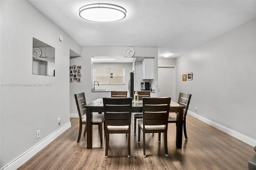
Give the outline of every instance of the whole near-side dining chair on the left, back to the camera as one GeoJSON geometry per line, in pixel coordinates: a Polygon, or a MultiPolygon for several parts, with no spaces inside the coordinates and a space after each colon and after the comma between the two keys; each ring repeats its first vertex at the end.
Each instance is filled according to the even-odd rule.
{"type": "Polygon", "coordinates": [[[132,97],[103,97],[105,116],[106,152],[108,158],[109,134],[128,134],[128,158],[131,157],[132,97]]]}

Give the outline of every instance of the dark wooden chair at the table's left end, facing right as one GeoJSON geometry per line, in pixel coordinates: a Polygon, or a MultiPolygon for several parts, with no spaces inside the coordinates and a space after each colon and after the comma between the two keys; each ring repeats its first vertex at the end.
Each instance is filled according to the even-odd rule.
{"type": "MultiPolygon", "coordinates": [[[[86,99],[84,93],[75,94],[76,99],[76,107],[79,115],[79,134],[77,142],[80,141],[81,133],[82,133],[82,125],[84,127],[84,135],[86,134],[86,99]]],[[[100,143],[102,144],[102,123],[104,122],[104,115],[101,114],[93,114],[92,115],[92,125],[98,125],[100,130],[100,143]]]]}

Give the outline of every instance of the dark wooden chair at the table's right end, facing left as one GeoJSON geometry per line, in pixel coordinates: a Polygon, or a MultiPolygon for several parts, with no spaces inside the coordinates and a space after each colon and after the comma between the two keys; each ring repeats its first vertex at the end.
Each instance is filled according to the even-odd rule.
{"type": "MultiPolygon", "coordinates": [[[[187,130],[186,130],[186,116],[187,116],[188,106],[190,103],[191,96],[192,96],[191,94],[180,93],[178,98],[178,103],[186,106],[186,108],[183,110],[183,130],[184,130],[184,135],[186,140],[188,140],[187,130]]],[[[169,114],[168,123],[177,123],[177,117],[175,113],[169,114]]]]}

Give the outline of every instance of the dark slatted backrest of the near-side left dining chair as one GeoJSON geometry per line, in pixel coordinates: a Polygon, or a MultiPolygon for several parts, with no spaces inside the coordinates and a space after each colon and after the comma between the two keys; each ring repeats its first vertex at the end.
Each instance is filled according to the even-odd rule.
{"type": "Polygon", "coordinates": [[[103,97],[105,125],[130,125],[132,97],[103,97]]]}

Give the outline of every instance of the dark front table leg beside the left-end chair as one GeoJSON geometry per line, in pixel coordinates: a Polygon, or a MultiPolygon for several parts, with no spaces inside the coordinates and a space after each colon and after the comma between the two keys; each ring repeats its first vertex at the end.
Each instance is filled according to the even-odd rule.
{"type": "Polygon", "coordinates": [[[92,110],[86,108],[87,149],[92,148],[92,110]]]}

